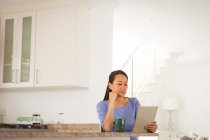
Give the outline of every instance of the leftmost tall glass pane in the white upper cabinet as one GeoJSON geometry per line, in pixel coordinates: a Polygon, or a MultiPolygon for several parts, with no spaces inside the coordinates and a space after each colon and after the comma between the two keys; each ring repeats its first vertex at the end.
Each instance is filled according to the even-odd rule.
{"type": "Polygon", "coordinates": [[[5,22],[3,83],[12,82],[14,19],[5,22]]]}

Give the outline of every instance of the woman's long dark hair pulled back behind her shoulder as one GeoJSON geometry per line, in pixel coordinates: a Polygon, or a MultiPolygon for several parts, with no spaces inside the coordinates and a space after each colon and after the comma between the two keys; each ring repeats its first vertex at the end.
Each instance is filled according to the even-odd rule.
{"type": "Polygon", "coordinates": [[[107,84],[107,87],[106,87],[106,92],[105,92],[105,96],[104,96],[104,101],[109,100],[109,92],[112,91],[112,90],[109,88],[109,83],[112,84],[113,81],[115,80],[116,75],[118,75],[118,74],[122,74],[122,75],[124,75],[124,76],[128,79],[127,74],[126,74],[124,71],[122,71],[122,70],[116,70],[116,71],[111,72],[110,75],[109,75],[109,81],[108,81],[108,84],[107,84]]]}

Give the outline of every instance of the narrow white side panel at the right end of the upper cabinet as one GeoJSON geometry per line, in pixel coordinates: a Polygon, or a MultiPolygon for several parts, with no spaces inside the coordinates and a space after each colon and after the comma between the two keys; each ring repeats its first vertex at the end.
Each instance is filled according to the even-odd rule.
{"type": "Polygon", "coordinates": [[[77,36],[75,58],[75,85],[89,86],[89,10],[87,6],[77,8],[77,36]]]}

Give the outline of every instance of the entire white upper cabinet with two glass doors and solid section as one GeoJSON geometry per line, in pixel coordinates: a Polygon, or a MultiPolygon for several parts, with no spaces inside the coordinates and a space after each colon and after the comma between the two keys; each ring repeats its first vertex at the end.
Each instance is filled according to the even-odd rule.
{"type": "Polygon", "coordinates": [[[88,87],[88,13],[74,5],[2,16],[0,87],[88,87]]]}

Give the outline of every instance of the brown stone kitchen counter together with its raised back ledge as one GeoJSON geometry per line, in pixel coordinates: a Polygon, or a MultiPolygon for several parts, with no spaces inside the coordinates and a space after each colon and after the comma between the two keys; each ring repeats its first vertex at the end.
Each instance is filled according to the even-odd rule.
{"type": "Polygon", "coordinates": [[[158,133],[100,132],[95,124],[49,125],[48,129],[0,129],[0,138],[84,138],[158,136],[158,133]]]}

